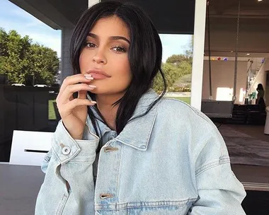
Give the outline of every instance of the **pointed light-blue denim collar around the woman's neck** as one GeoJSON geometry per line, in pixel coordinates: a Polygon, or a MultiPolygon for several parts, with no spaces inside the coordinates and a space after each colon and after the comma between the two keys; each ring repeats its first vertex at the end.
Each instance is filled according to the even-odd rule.
{"type": "MultiPolygon", "coordinates": [[[[140,98],[139,102],[137,103],[137,108],[135,109],[132,118],[135,118],[139,115],[142,115],[144,112],[147,112],[149,105],[151,105],[151,103],[153,103],[154,100],[156,100],[157,98],[158,95],[152,89],[142,95],[142,98],[140,98]]],[[[151,136],[152,128],[156,120],[158,106],[159,103],[154,105],[154,107],[151,108],[147,115],[144,115],[143,117],[138,117],[137,119],[127,123],[125,125],[125,128],[122,130],[122,132],[120,132],[118,136],[116,136],[115,139],[127,146],[131,146],[141,151],[146,151],[149,144],[149,138],[151,136]]],[[[91,132],[94,132],[93,125],[91,124],[91,120],[89,119],[89,117],[87,120],[87,124],[91,132]]],[[[103,124],[103,122],[99,120],[98,125],[101,129],[102,136],[106,132],[111,131],[109,127],[107,127],[105,124],[103,124]]]]}

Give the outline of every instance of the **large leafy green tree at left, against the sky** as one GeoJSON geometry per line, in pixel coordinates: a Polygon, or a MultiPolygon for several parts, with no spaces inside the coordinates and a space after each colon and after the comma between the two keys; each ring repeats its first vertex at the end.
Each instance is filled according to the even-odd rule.
{"type": "Polygon", "coordinates": [[[9,83],[55,83],[59,71],[57,52],[33,44],[30,37],[21,37],[16,30],[8,33],[0,28],[0,74],[8,75],[9,83]]]}

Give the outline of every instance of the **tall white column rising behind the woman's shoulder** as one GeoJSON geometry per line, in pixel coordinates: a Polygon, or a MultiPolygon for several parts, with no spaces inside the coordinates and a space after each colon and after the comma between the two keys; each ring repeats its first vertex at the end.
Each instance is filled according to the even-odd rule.
{"type": "Polygon", "coordinates": [[[205,12],[206,0],[195,1],[195,26],[193,38],[193,71],[191,82],[190,105],[201,109],[202,100],[202,72],[205,47],[205,12]]]}

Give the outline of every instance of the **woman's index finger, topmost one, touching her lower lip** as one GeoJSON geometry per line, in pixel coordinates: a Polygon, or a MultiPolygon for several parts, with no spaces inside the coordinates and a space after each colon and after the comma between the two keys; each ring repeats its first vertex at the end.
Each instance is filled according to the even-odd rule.
{"type": "Polygon", "coordinates": [[[74,85],[76,83],[89,83],[93,80],[93,77],[90,74],[76,74],[74,76],[67,76],[66,79],[62,82],[62,86],[59,89],[59,95],[65,91],[65,88],[69,85],[74,85]]]}

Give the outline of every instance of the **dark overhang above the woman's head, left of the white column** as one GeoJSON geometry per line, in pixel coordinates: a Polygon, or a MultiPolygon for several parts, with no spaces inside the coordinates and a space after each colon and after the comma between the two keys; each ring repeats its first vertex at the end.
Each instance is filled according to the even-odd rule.
{"type": "MultiPolygon", "coordinates": [[[[73,28],[93,0],[9,0],[54,29],[73,28]]],[[[106,0],[102,0],[106,1],[106,0]]],[[[159,33],[193,34],[195,0],[132,1],[151,17],[159,33]]]]}

